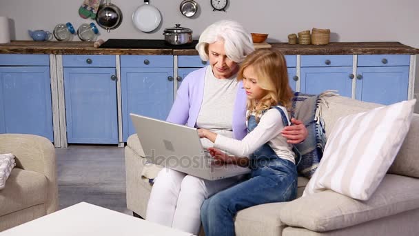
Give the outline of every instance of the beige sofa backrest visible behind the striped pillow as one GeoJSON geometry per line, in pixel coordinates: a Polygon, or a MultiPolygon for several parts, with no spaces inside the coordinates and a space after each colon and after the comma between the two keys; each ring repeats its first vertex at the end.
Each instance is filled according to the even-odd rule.
{"type": "MultiPolygon", "coordinates": [[[[379,106],[380,104],[367,103],[347,97],[333,96],[325,97],[327,104],[320,104],[320,113],[325,121],[326,136],[336,124],[339,117],[365,112],[379,106]]],[[[397,130],[395,130],[397,132],[397,130]]],[[[388,173],[419,177],[419,115],[413,114],[409,132],[400,148],[400,151],[389,168],[388,173]]]]}

